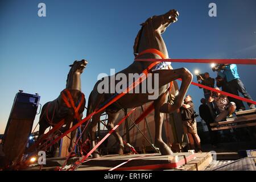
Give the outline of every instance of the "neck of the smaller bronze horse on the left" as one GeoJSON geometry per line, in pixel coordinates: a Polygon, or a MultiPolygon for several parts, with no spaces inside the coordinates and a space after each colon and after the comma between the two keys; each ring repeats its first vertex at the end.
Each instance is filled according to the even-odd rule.
{"type": "Polygon", "coordinates": [[[81,89],[81,73],[68,73],[68,80],[66,84],[66,89],[72,90],[82,90],[81,89]]]}

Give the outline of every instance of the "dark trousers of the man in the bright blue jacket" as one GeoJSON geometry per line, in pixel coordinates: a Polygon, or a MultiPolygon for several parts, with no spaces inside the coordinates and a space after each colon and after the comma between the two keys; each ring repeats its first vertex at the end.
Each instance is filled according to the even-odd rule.
{"type": "MultiPolygon", "coordinates": [[[[238,91],[239,91],[243,95],[243,97],[249,100],[253,100],[250,94],[246,92],[245,85],[243,85],[243,82],[240,80],[240,78],[229,81],[228,85],[232,94],[239,96],[238,94],[238,91]]],[[[249,106],[251,105],[250,103],[247,103],[247,104],[249,106]]],[[[240,109],[243,106],[243,102],[239,100],[237,101],[236,105],[237,105],[237,109],[240,109]]]]}

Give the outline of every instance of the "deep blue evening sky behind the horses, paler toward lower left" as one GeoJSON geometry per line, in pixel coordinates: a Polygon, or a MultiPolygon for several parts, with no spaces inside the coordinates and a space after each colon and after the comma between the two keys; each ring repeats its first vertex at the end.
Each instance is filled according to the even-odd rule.
{"type": "MultiPolygon", "coordinates": [[[[86,99],[99,73],[110,74],[133,62],[139,24],[176,9],[178,21],[163,34],[172,58],[256,58],[256,1],[0,1],[0,133],[5,130],[19,89],[39,93],[40,103],[65,88],[73,60],[86,59],[82,91],[86,99]],[[46,3],[47,17],[38,17],[46,3]],[[217,17],[208,5],[217,4],[217,17]]],[[[216,73],[209,64],[173,63],[172,67],[216,73]]],[[[254,65],[238,65],[246,89],[256,100],[254,65]]],[[[194,78],[194,81],[196,79],[194,78]]],[[[196,107],[203,90],[191,85],[196,107]]],[[[37,123],[36,117],[35,123],[37,123]]]]}

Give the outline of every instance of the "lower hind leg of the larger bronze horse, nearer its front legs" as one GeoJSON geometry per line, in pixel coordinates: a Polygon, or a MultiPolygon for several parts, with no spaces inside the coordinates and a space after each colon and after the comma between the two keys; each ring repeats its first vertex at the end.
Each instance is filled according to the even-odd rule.
{"type": "MultiPolygon", "coordinates": [[[[116,121],[118,115],[119,115],[118,113],[108,113],[108,130],[109,131],[114,128],[114,122],[116,121]]],[[[114,131],[113,135],[117,140],[117,142],[119,143],[118,155],[123,155],[125,146],[123,145],[122,136],[117,131],[114,131]]]]}

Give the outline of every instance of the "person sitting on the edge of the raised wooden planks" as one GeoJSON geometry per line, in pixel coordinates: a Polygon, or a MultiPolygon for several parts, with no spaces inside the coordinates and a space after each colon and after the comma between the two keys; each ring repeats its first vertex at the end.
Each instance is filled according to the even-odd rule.
{"type": "MultiPolygon", "coordinates": [[[[218,87],[215,89],[220,90],[218,87]]],[[[218,115],[214,119],[215,122],[220,122],[227,116],[233,117],[232,114],[236,111],[236,104],[234,102],[229,102],[228,97],[218,92],[213,92],[208,101],[213,102],[217,110],[218,115]]]]}

